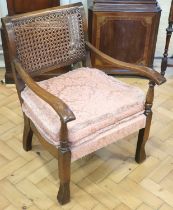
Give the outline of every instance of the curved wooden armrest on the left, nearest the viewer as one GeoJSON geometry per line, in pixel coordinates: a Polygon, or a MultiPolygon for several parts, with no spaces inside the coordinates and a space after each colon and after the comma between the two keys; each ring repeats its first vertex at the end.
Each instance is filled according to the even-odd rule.
{"type": "Polygon", "coordinates": [[[69,109],[69,107],[58,97],[52,95],[42,87],[40,87],[31,77],[28,75],[21,64],[15,59],[13,61],[15,69],[20,75],[21,79],[26,83],[26,85],[41,99],[47,102],[59,115],[60,119],[64,122],[70,122],[75,120],[75,115],[69,109]]]}

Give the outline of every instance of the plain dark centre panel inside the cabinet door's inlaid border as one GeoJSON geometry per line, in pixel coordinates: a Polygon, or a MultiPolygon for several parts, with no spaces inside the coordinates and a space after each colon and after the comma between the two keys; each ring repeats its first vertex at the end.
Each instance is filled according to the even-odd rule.
{"type": "Polygon", "coordinates": [[[147,27],[141,21],[107,18],[100,34],[100,50],[106,54],[130,63],[144,60],[147,27]]]}

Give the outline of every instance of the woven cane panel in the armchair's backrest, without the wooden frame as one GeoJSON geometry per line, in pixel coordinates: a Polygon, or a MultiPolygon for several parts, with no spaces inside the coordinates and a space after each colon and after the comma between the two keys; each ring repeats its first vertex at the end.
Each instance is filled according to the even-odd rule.
{"type": "Polygon", "coordinates": [[[30,74],[85,57],[80,7],[56,9],[12,20],[17,58],[30,74]]]}

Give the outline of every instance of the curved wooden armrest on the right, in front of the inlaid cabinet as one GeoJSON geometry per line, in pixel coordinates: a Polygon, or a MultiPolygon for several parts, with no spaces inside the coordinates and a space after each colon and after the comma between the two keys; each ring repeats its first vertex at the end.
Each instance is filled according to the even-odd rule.
{"type": "Polygon", "coordinates": [[[115,67],[119,67],[121,69],[127,69],[134,71],[140,76],[146,77],[152,81],[154,81],[157,85],[161,85],[164,82],[166,82],[166,79],[159,74],[154,69],[145,67],[145,66],[139,66],[135,64],[126,63],[123,61],[116,60],[109,55],[106,55],[105,53],[101,52],[97,48],[95,48],[91,43],[86,42],[86,46],[89,48],[89,50],[94,53],[96,56],[102,58],[104,61],[108,62],[111,65],[114,65],[115,67]]]}

